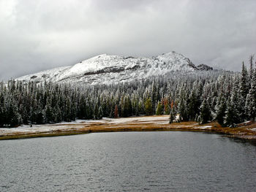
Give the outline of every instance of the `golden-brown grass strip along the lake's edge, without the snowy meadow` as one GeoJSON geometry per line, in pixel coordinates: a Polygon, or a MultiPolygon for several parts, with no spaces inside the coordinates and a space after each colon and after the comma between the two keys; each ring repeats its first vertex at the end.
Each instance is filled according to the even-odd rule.
{"type": "Polygon", "coordinates": [[[42,133],[29,133],[29,132],[12,132],[8,135],[0,135],[0,139],[22,139],[30,137],[53,137],[71,134],[88,134],[95,132],[118,132],[118,131],[201,131],[201,132],[214,132],[218,134],[225,134],[228,137],[235,137],[240,139],[254,139],[256,140],[256,123],[249,126],[238,128],[222,128],[219,123],[212,122],[204,125],[199,125],[195,121],[188,121],[182,123],[167,124],[161,122],[163,120],[141,120],[138,118],[131,120],[127,123],[78,123],[78,124],[62,124],[63,128],[56,129],[56,131],[42,132],[42,133]],[[68,126],[64,128],[64,126],[68,126]],[[202,128],[203,126],[211,126],[202,128]]]}

